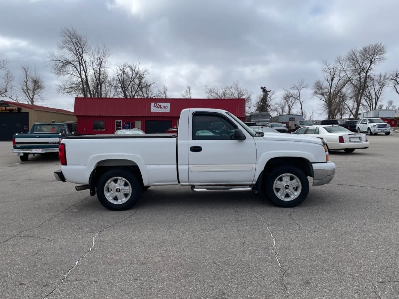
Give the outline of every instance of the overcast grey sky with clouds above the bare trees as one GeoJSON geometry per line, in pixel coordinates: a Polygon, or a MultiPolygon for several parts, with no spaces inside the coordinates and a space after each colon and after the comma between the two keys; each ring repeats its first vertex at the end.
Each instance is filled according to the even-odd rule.
{"type": "MultiPolygon", "coordinates": [[[[190,85],[193,98],[204,98],[205,85],[236,80],[255,100],[260,86],[281,95],[303,78],[311,87],[323,60],[371,43],[387,46],[376,71],[399,68],[398,8],[397,0],[0,0],[0,60],[17,80],[21,65],[39,71],[45,98],[37,104],[72,110],[73,96],[56,91],[48,53],[73,27],[92,46],[106,45],[113,64],[147,67],[169,97],[190,85]]],[[[302,98],[314,119],[325,116],[311,88],[302,98]]],[[[390,99],[399,105],[388,88],[383,102],[390,99]]]]}

